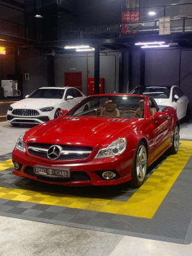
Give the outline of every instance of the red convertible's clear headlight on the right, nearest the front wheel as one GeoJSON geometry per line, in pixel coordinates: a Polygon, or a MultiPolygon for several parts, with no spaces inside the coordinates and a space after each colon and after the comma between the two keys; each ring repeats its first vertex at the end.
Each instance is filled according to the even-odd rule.
{"type": "Polygon", "coordinates": [[[107,148],[100,149],[95,158],[118,156],[125,151],[126,145],[126,139],[119,138],[118,140],[113,141],[107,148]]]}

